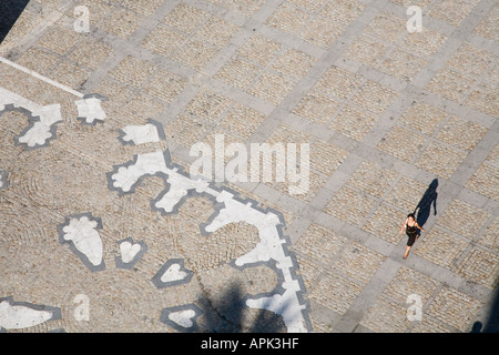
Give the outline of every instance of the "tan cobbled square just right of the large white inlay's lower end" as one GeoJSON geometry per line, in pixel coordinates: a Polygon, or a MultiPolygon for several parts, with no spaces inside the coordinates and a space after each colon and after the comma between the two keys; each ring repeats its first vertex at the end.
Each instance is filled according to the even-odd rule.
{"type": "Polygon", "coordinates": [[[312,288],[309,297],[322,306],[343,315],[348,311],[361,290],[363,287],[359,284],[344,276],[327,272],[318,281],[317,285],[312,288]]]}

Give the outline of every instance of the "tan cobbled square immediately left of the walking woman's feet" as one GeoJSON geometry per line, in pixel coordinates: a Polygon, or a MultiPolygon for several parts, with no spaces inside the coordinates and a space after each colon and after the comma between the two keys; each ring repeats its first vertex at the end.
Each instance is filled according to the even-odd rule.
{"type": "Polygon", "coordinates": [[[353,242],[342,250],[330,267],[337,273],[344,273],[353,280],[367,284],[385,260],[385,255],[353,242]]]}

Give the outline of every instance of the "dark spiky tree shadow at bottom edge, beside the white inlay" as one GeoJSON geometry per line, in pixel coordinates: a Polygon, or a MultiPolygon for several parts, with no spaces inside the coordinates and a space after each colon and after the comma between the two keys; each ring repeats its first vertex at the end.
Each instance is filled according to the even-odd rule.
{"type": "Polygon", "coordinates": [[[204,294],[200,300],[204,322],[202,333],[284,333],[283,317],[274,312],[258,310],[255,321],[246,320],[246,300],[238,283],[232,283],[216,300],[204,294]]]}

